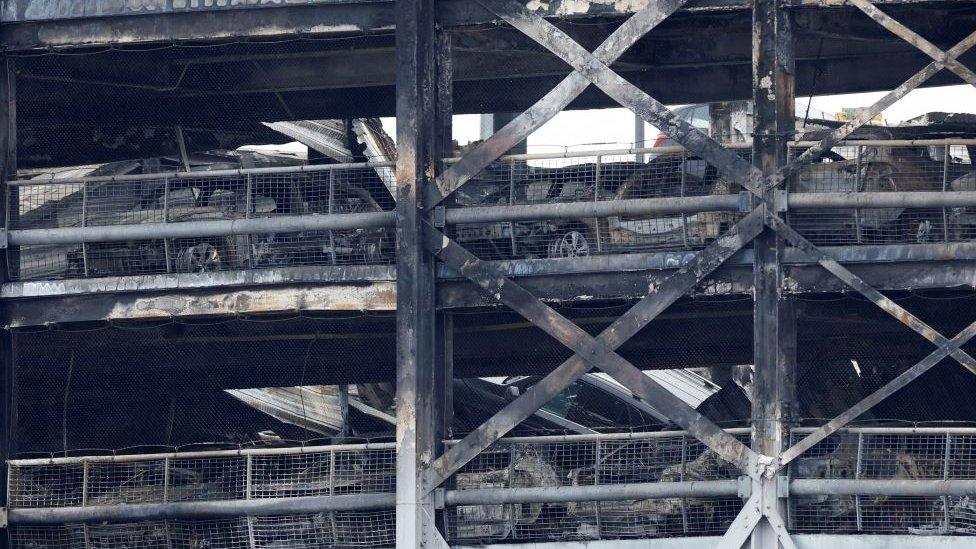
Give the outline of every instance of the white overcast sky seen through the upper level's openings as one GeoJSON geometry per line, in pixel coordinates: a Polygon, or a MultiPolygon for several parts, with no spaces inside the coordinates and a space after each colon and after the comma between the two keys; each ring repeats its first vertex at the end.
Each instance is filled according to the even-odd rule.
{"type": "MultiPolygon", "coordinates": [[[[859,93],[815,97],[811,110],[822,111],[828,115],[840,112],[843,108],[867,107],[884,96],[879,93],[859,93]]],[[[797,116],[803,116],[809,98],[797,99],[797,116]]],[[[966,112],[976,114],[976,88],[969,85],[946,86],[940,88],[917,89],[903,97],[883,114],[888,124],[928,112],[966,112]]],[[[396,135],[393,119],[384,119],[384,126],[390,135],[396,135]]],[[[465,144],[479,139],[480,122],[477,115],[454,117],[454,138],[465,144]]],[[[658,131],[650,126],[645,128],[645,139],[654,142],[658,131]]],[[[605,148],[606,145],[630,146],[634,140],[634,116],[626,109],[600,109],[587,111],[564,111],[547,122],[529,137],[529,152],[555,152],[565,149],[585,150],[605,148]]]]}

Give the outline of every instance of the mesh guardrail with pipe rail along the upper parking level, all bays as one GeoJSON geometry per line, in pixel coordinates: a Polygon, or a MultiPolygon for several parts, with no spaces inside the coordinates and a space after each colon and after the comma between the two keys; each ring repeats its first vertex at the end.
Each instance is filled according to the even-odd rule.
{"type": "MultiPolygon", "coordinates": [[[[777,206],[818,245],[976,240],[974,151],[976,140],[842,143],[790,180],[777,206]]],[[[391,168],[14,181],[10,278],[389,264],[391,168]]],[[[659,147],[503,157],[435,219],[482,259],[561,258],[698,249],[748,206],[703,161],[659,147]]]]}

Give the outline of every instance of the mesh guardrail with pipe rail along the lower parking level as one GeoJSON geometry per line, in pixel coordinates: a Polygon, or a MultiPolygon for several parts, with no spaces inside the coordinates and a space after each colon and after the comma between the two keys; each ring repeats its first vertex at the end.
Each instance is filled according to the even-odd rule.
{"type": "MultiPolygon", "coordinates": [[[[738,475],[683,432],[506,438],[441,505],[457,543],[706,535],[748,496],[738,475]]],[[[784,478],[797,532],[976,533],[976,428],[845,429],[784,478]]],[[[15,546],[72,532],[111,546],[110,531],[258,547],[272,530],[382,546],[394,489],[392,443],[11,460],[8,519],[15,546]]]]}

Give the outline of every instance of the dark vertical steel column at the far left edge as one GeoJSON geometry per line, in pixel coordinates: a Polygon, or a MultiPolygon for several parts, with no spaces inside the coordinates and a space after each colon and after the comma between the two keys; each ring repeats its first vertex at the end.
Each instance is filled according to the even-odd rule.
{"type": "MultiPolygon", "coordinates": [[[[17,174],[17,86],[13,59],[4,56],[3,77],[0,78],[0,184],[9,201],[3,208],[3,226],[8,226],[8,216],[19,212],[20,195],[17,189],[7,188],[7,181],[17,174]]],[[[14,223],[15,225],[15,223],[14,223]]],[[[19,257],[14,255],[19,261],[19,257]]],[[[11,272],[7,254],[0,255],[4,265],[0,268],[0,282],[6,282],[11,272]]],[[[9,330],[0,332],[0,486],[7,486],[7,459],[17,453],[17,353],[15,340],[9,330]]],[[[0,507],[7,506],[7,490],[0,490],[0,507]]],[[[0,536],[0,548],[8,546],[9,536],[0,536]]]]}

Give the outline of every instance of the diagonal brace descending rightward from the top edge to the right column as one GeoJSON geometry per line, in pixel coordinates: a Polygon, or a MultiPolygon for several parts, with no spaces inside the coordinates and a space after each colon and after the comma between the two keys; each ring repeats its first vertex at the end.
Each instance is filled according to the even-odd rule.
{"type": "Polygon", "coordinates": [[[675,116],[667,107],[614,72],[602,59],[587,51],[555,25],[530,12],[517,0],[478,1],[565,61],[615,101],[701,156],[730,180],[755,194],[762,194],[764,178],[759,170],[690,123],[675,116]]]}

